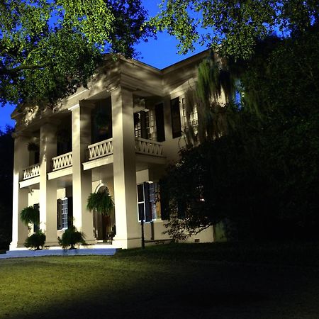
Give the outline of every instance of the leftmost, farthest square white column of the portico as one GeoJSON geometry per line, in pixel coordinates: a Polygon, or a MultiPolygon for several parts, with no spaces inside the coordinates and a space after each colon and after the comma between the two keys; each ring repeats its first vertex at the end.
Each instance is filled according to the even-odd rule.
{"type": "Polygon", "coordinates": [[[13,216],[12,216],[12,242],[10,250],[23,247],[28,237],[28,226],[20,220],[20,212],[28,206],[28,189],[21,189],[19,181],[23,179],[23,169],[29,165],[28,139],[17,136],[14,140],[13,163],[13,216]]]}

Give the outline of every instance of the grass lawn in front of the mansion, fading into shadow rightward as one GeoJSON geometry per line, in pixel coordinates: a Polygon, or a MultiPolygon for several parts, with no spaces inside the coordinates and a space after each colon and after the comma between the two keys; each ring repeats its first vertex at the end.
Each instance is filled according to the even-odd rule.
{"type": "Polygon", "coordinates": [[[0,318],[319,318],[318,245],[196,244],[0,262],[0,318]]]}

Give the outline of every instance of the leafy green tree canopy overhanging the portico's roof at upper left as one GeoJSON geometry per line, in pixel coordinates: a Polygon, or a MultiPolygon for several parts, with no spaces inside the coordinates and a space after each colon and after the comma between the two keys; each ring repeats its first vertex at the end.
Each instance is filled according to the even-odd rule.
{"type": "Polygon", "coordinates": [[[0,102],[53,106],[87,85],[102,53],[133,57],[145,38],[140,0],[0,3],[0,102]]]}

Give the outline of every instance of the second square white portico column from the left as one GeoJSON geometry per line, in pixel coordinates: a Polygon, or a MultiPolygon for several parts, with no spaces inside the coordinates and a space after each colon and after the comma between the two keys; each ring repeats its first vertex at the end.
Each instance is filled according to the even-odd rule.
{"type": "Polygon", "coordinates": [[[56,127],[45,123],[40,128],[40,229],[45,233],[45,245],[56,246],[57,242],[57,181],[47,180],[51,172],[52,157],[57,155],[56,127]]]}

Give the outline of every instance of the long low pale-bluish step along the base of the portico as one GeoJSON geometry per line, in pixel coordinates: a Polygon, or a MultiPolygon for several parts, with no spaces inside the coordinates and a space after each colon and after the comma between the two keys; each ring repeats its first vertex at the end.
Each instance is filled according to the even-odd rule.
{"type": "Polygon", "coordinates": [[[76,250],[9,250],[6,254],[0,254],[0,259],[42,256],[87,256],[104,255],[113,256],[116,248],[81,248],[76,250]]]}

